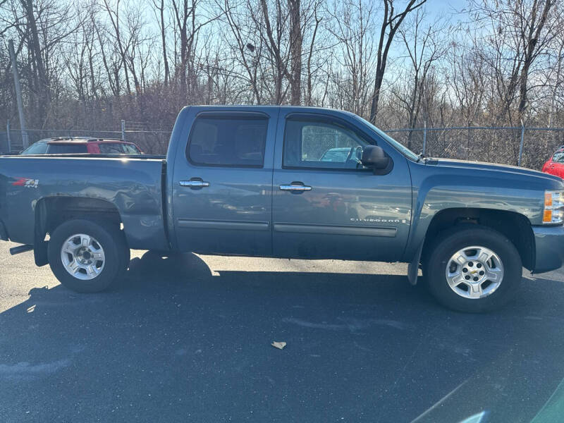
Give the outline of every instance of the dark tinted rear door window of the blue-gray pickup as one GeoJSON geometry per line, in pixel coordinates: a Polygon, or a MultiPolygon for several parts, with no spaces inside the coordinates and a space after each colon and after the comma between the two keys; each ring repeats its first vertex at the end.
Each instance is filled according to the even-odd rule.
{"type": "Polygon", "coordinates": [[[262,116],[201,116],[188,142],[188,159],[207,166],[262,167],[268,120],[262,116]]]}

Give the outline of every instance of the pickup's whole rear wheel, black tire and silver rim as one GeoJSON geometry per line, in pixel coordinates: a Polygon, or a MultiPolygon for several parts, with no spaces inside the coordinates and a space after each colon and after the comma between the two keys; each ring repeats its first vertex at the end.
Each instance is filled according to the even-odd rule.
{"type": "Polygon", "coordinates": [[[109,288],[129,262],[129,248],[119,227],[86,219],[58,226],[49,238],[47,254],[56,278],[78,293],[109,288]]]}

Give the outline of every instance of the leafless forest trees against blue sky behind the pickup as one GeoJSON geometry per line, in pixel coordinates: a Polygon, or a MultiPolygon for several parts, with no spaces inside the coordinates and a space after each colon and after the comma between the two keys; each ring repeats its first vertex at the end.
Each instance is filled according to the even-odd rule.
{"type": "MultiPolygon", "coordinates": [[[[0,0],[0,128],[17,128],[8,39],[28,128],[170,130],[187,104],[333,107],[384,129],[564,127],[563,0],[0,0]]],[[[518,135],[472,145],[495,154],[518,135]]],[[[560,137],[539,133],[529,156],[560,137]]]]}

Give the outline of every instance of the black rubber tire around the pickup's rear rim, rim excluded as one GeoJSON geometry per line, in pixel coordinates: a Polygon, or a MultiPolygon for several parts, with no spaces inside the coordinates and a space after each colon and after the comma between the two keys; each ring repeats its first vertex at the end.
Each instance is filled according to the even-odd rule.
{"type": "Polygon", "coordinates": [[[116,225],[104,221],[73,219],[58,226],[49,238],[47,247],[49,266],[57,279],[75,292],[97,293],[106,290],[127,269],[130,250],[123,231],[116,225]],[[61,248],[66,240],[76,234],[94,238],[104,250],[104,266],[100,273],[90,280],[82,280],[71,275],[61,258],[61,248]]]}

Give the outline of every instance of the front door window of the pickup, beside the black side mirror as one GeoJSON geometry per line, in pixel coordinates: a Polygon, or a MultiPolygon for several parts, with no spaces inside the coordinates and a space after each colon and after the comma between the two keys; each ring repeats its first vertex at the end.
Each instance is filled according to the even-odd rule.
{"type": "Polygon", "coordinates": [[[336,123],[286,121],[284,166],[363,169],[362,148],[369,145],[353,130],[336,123]]]}

